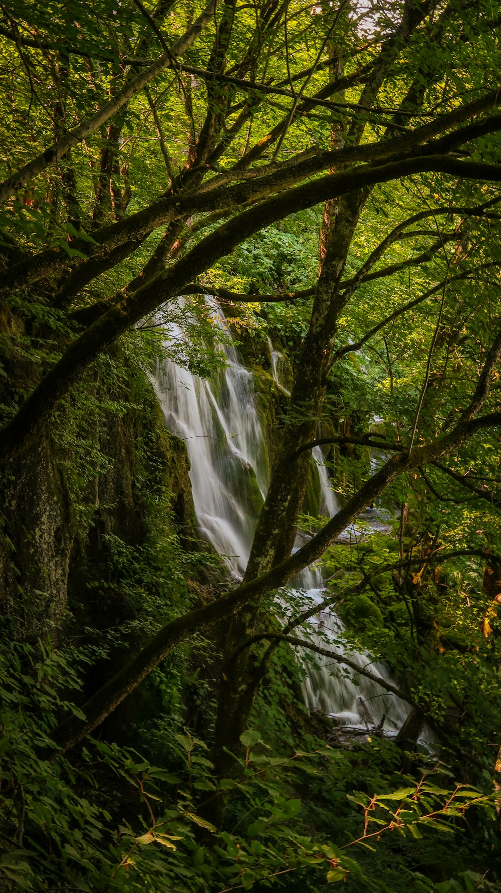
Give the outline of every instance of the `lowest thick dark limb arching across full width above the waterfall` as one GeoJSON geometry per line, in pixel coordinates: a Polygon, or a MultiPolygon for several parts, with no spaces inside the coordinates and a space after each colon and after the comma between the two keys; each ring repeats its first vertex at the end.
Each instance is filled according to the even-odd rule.
{"type": "MultiPolygon", "coordinates": [[[[89,363],[111,346],[122,332],[142,317],[153,313],[169,298],[179,294],[180,289],[193,280],[194,276],[207,270],[216,260],[229,255],[245,238],[273,221],[318,204],[326,198],[346,195],[354,189],[372,186],[376,182],[388,182],[420,171],[444,171],[464,178],[501,180],[501,165],[498,164],[463,162],[447,155],[417,157],[375,168],[367,166],[361,170],[321,177],[239,214],[202,239],[170,270],[159,273],[137,291],[117,301],[68,347],[61,360],[55,363],[21,406],[13,421],[0,431],[0,457],[5,461],[38,438],[59,400],[79,379],[89,363]]],[[[199,198],[206,201],[205,196],[199,198]]],[[[221,196],[221,203],[225,200],[221,196]]],[[[214,195],[212,201],[215,202],[214,195]]],[[[197,203],[196,196],[192,202],[197,203]]]]}

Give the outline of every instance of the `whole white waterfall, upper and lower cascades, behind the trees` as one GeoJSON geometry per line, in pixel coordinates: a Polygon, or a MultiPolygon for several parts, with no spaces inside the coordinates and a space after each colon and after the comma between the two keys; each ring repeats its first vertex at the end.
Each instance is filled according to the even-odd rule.
{"type": "MultiPolygon", "coordinates": [[[[213,312],[213,318],[224,332],[220,348],[226,367],[206,380],[166,361],[159,364],[154,385],[167,428],[182,438],[188,449],[200,535],[221,555],[230,574],[238,578],[243,575],[250,554],[269,469],[253,374],[240,362],[220,309],[213,312]]],[[[180,332],[170,335],[179,338],[180,332]]],[[[277,387],[286,391],[280,381],[281,355],[273,351],[271,343],[270,350],[273,378],[277,387]]],[[[332,517],[338,511],[338,501],[330,487],[320,447],[314,448],[313,460],[321,488],[319,514],[332,517]]],[[[301,592],[313,605],[321,605],[322,585],[318,568],[305,569],[294,581],[295,588],[288,589],[287,604],[290,605],[291,593],[301,592]]],[[[304,599],[303,596],[303,602],[304,599]]],[[[343,624],[331,607],[315,614],[310,622],[315,644],[342,653],[339,638],[343,624]]],[[[331,716],[340,726],[363,731],[377,728],[388,735],[395,735],[404,724],[408,706],[373,680],[327,656],[308,652],[299,655],[299,659],[305,668],[303,695],[311,710],[331,716]]],[[[371,655],[350,650],[349,660],[381,680],[390,681],[384,665],[374,663],[371,655]]]]}

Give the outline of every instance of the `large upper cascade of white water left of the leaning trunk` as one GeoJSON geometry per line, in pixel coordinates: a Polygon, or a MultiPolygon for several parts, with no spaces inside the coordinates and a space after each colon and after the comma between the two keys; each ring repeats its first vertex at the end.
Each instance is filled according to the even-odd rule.
{"type": "MultiPolygon", "coordinates": [[[[213,319],[225,330],[222,313],[213,319]]],[[[180,330],[171,326],[171,338],[180,330]]],[[[157,370],[156,389],[167,428],[186,442],[200,533],[236,576],[246,568],[268,469],[252,372],[238,362],[229,338],[221,344],[228,363],[212,380],[175,363],[157,370]]]]}

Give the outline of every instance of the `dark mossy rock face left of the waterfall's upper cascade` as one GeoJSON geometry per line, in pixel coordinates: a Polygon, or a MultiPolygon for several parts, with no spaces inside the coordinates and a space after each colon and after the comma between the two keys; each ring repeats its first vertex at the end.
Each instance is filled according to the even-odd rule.
{"type": "Polygon", "coordinates": [[[151,536],[155,504],[181,547],[195,536],[186,447],[165,429],[146,375],[122,376],[113,404],[107,384],[95,376],[82,385],[54,421],[54,437],[0,481],[0,612],[29,637],[57,630],[104,537],[140,547],[151,536]]]}

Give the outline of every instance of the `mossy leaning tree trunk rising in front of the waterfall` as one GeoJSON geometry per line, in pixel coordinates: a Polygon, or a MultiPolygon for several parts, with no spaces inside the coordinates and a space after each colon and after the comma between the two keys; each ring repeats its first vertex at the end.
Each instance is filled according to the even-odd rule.
{"type": "MultiPolygon", "coordinates": [[[[311,456],[311,448],[301,448],[316,438],[338,316],[344,306],[339,284],[366,196],[361,190],[343,196],[335,206],[330,204],[334,213],[330,215],[328,244],[313,299],[310,327],[296,363],[288,419],[257,523],[246,582],[280,563],[294,546],[311,456]]],[[[225,643],[212,755],[218,778],[227,777],[234,769],[231,754],[238,753],[241,747],[239,738],[246,729],[255,698],[254,657],[245,644],[255,633],[259,613],[259,603],[246,605],[231,621],[225,643]]],[[[205,805],[205,814],[220,826],[223,798],[212,797],[205,805]]]]}

